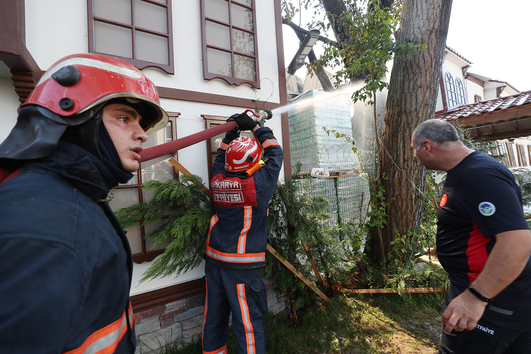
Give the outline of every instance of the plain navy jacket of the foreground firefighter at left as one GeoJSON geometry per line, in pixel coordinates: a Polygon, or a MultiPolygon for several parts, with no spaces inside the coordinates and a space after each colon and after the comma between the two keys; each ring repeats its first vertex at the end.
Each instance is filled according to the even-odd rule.
{"type": "Polygon", "coordinates": [[[98,202],[110,178],[60,142],[0,186],[0,353],[134,353],[131,250],[98,202]]]}

